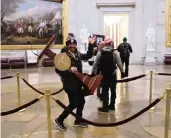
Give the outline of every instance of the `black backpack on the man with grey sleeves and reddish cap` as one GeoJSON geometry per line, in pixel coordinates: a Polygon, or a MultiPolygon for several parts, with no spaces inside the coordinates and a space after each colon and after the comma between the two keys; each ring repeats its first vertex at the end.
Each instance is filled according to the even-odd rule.
{"type": "Polygon", "coordinates": [[[103,76],[111,76],[116,69],[113,51],[102,51],[100,56],[100,71],[103,76]]]}

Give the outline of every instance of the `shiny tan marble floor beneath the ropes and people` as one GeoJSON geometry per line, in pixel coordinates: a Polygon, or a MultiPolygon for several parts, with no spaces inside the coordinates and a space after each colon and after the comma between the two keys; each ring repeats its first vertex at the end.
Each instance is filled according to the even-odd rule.
{"type": "MultiPolygon", "coordinates": [[[[90,73],[91,68],[85,63],[84,72],[90,73]]],[[[148,74],[149,71],[171,73],[171,66],[142,66],[130,65],[130,77],[148,74]]],[[[45,92],[50,89],[55,92],[62,88],[59,76],[53,67],[1,70],[1,77],[14,75],[19,72],[31,85],[45,92]]],[[[119,72],[118,72],[119,74],[119,72]]],[[[118,79],[119,79],[118,75],[118,79]]],[[[118,83],[116,110],[109,113],[100,113],[97,108],[101,102],[96,95],[86,97],[84,118],[99,123],[114,123],[124,120],[149,104],[149,75],[128,83],[118,83]]],[[[34,90],[28,87],[22,80],[21,104],[30,102],[39,97],[34,90]]],[[[152,98],[155,100],[162,96],[167,85],[171,84],[170,76],[153,76],[152,98]]],[[[65,105],[68,104],[65,92],[55,95],[65,105]]],[[[65,120],[67,131],[61,132],[52,123],[53,138],[164,138],[165,103],[161,100],[155,110],[147,111],[138,118],[117,127],[74,128],[74,118],[69,116],[65,120]]],[[[18,106],[16,78],[1,81],[1,112],[14,109],[18,106]]],[[[2,138],[48,138],[46,98],[26,108],[25,112],[15,113],[1,117],[2,138]]],[[[51,99],[52,121],[63,111],[54,100],[51,99]]],[[[171,113],[169,124],[169,138],[171,138],[171,113]]]]}

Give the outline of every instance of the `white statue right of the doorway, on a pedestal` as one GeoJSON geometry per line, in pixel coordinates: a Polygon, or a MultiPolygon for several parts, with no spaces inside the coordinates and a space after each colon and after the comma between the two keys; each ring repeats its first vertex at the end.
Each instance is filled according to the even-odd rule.
{"type": "Polygon", "coordinates": [[[155,30],[152,28],[151,24],[149,24],[146,31],[146,50],[155,50],[155,30]]]}

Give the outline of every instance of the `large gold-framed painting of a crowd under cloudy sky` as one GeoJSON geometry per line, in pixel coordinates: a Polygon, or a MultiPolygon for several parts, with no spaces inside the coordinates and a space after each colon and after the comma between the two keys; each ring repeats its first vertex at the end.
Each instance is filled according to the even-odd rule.
{"type": "Polygon", "coordinates": [[[67,36],[67,0],[2,0],[1,49],[42,49],[56,34],[54,48],[67,36]]]}

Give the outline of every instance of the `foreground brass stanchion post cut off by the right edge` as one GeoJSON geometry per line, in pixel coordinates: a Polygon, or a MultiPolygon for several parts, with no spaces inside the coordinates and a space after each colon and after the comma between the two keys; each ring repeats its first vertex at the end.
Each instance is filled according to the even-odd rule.
{"type": "Polygon", "coordinates": [[[165,111],[165,130],[164,138],[169,138],[169,115],[170,115],[170,96],[171,88],[166,89],[166,111],[165,111]]]}

